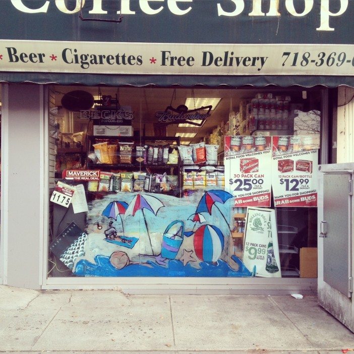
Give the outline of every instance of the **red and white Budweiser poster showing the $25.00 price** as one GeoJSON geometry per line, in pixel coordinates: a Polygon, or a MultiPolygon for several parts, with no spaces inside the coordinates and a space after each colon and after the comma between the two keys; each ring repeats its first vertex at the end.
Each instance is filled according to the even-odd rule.
{"type": "Polygon", "coordinates": [[[235,207],[270,207],[271,137],[225,136],[225,191],[235,207]]]}

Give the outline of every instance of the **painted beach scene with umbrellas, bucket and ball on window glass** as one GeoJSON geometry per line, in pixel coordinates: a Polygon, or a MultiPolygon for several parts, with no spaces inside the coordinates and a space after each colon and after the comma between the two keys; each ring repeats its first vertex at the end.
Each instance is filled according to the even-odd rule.
{"type": "Polygon", "coordinates": [[[230,247],[232,196],[117,192],[89,202],[77,276],[250,277],[230,247]]]}

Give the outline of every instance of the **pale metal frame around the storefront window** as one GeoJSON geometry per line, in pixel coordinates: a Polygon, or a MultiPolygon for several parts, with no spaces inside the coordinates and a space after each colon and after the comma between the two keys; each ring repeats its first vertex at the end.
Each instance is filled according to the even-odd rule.
{"type": "MultiPolygon", "coordinates": [[[[259,88],[265,89],[265,87],[259,88]]],[[[277,89],[276,87],[272,89],[277,89]]],[[[289,88],[301,90],[301,87],[289,88]]],[[[328,88],[321,88],[321,154],[320,162],[328,161],[329,152],[329,95],[328,88]]],[[[317,278],[232,278],[232,277],[47,277],[48,249],[48,86],[44,87],[43,116],[43,232],[41,233],[42,289],[116,289],[129,293],[195,293],[195,294],[289,294],[302,291],[317,292],[317,278]]]]}

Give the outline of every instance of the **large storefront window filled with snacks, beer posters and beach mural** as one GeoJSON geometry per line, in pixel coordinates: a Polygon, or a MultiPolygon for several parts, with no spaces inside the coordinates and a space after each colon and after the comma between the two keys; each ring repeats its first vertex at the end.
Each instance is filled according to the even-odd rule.
{"type": "Polygon", "coordinates": [[[320,90],[49,97],[48,276],[317,276],[320,90]]]}

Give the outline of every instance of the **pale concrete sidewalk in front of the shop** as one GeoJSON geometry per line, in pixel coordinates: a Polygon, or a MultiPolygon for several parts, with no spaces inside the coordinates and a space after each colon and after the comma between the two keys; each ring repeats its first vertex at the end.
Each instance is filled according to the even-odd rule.
{"type": "MultiPolygon", "coordinates": [[[[316,297],[134,295],[0,286],[0,351],[339,352],[354,334],[316,297]]],[[[350,354],[350,353],[349,353],[350,354]]]]}

